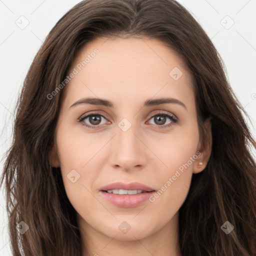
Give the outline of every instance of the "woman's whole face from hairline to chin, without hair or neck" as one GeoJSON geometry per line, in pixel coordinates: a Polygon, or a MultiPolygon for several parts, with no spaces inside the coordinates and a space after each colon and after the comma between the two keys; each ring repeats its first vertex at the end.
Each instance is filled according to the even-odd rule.
{"type": "Polygon", "coordinates": [[[52,165],[60,166],[80,226],[119,240],[173,226],[210,153],[181,58],[156,39],[97,38],[70,73],[52,165]]]}

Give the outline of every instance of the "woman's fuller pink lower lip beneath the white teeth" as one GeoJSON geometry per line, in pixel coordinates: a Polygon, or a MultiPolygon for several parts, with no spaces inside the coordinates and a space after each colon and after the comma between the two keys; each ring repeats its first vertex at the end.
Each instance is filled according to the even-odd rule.
{"type": "Polygon", "coordinates": [[[104,198],[106,198],[112,204],[118,207],[130,208],[138,206],[139,204],[146,201],[155,191],[138,194],[113,194],[105,191],[99,192],[100,194],[102,194],[104,198]]]}

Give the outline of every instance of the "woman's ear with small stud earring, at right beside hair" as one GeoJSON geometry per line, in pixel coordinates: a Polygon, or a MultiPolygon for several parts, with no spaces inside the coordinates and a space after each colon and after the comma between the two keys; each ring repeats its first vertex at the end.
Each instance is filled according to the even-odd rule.
{"type": "Polygon", "coordinates": [[[201,154],[198,154],[198,157],[193,165],[193,173],[201,172],[205,166],[207,165],[207,162],[210,158],[211,154],[211,146],[212,146],[212,134],[211,134],[211,117],[207,118],[204,121],[204,129],[205,129],[205,140],[199,141],[197,151],[199,151],[201,154]],[[202,164],[199,164],[202,163],[202,164]]]}

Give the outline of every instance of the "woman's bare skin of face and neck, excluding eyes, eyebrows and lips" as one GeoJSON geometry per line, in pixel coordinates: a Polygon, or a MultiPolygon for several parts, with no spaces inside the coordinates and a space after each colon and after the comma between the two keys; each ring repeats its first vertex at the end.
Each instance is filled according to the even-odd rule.
{"type": "Polygon", "coordinates": [[[60,166],[67,197],[77,211],[83,247],[95,256],[179,256],[178,210],[192,174],[205,168],[211,151],[208,119],[210,139],[199,139],[192,76],[161,41],[137,38],[97,38],[78,52],[69,71],[95,48],[99,52],[64,89],[51,153],[51,164],[60,166]],[[174,67],[182,71],[177,80],[169,75],[174,67]],[[166,96],[182,101],[186,109],[177,103],[142,106],[147,99],[166,96]],[[113,107],[70,107],[83,97],[107,99],[113,107]],[[102,114],[96,115],[101,121],[94,124],[86,118],[83,123],[100,127],[87,128],[77,120],[91,111],[102,114]],[[159,111],[178,122],[161,128],[172,120],[165,116],[161,125],[150,117],[159,111]],[[123,118],[131,124],[126,131],[118,126],[123,118]],[[137,181],[159,190],[197,151],[200,156],[153,202],[121,208],[99,194],[102,186],[116,181],[137,181]],[[72,169],[80,175],[74,183],[67,178],[72,169]],[[118,228],[123,221],[131,227],[126,233],[118,228]]]}

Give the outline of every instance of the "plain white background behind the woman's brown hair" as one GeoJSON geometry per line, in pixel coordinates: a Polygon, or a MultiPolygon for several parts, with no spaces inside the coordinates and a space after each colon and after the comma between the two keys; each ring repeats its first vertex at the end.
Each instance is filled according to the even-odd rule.
{"type": "MultiPolygon", "coordinates": [[[[11,142],[14,104],[28,67],[53,25],[78,2],[79,0],[0,0],[0,173],[4,153],[11,142]],[[25,18],[20,18],[22,15],[25,18]],[[18,22],[29,24],[20,29],[16,24],[18,22]]],[[[220,53],[231,87],[251,118],[252,124],[248,120],[247,122],[255,137],[256,0],[178,2],[202,25],[220,53]]],[[[11,255],[2,188],[0,220],[0,255],[11,255]]]]}

